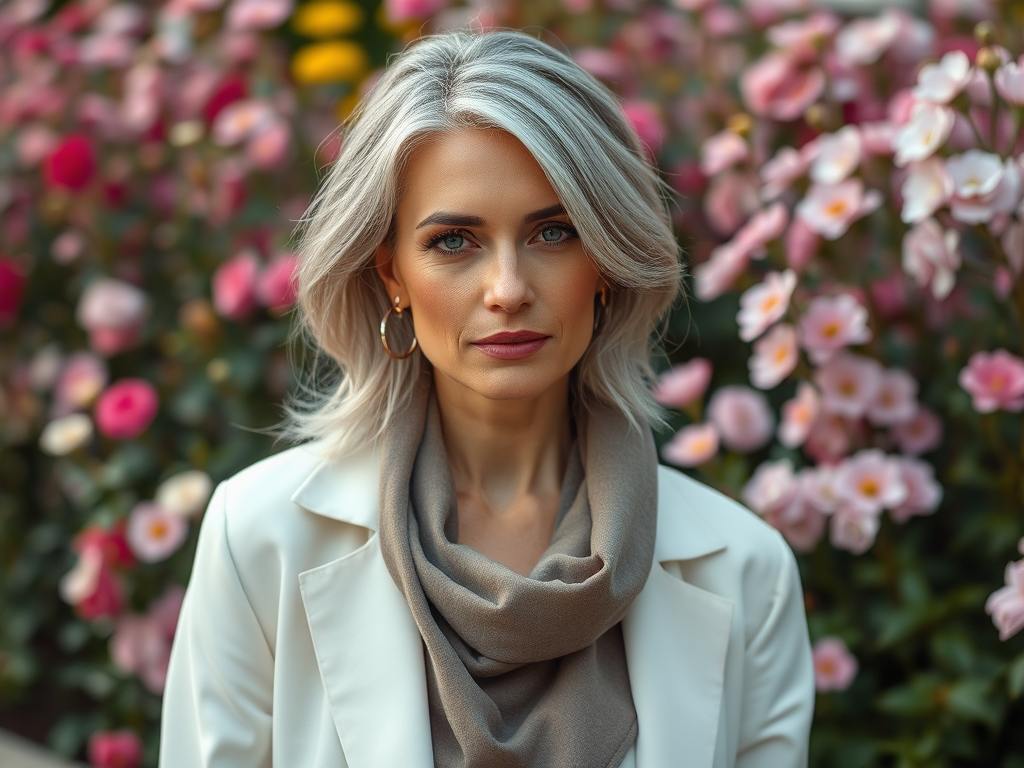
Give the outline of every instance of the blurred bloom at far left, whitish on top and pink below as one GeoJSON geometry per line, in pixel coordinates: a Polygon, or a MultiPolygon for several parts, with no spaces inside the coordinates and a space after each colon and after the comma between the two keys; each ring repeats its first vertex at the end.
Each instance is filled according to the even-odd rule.
{"type": "Polygon", "coordinates": [[[90,283],[76,309],[78,324],[89,332],[89,345],[106,356],[134,346],[148,314],[148,297],[113,278],[90,283]]]}

